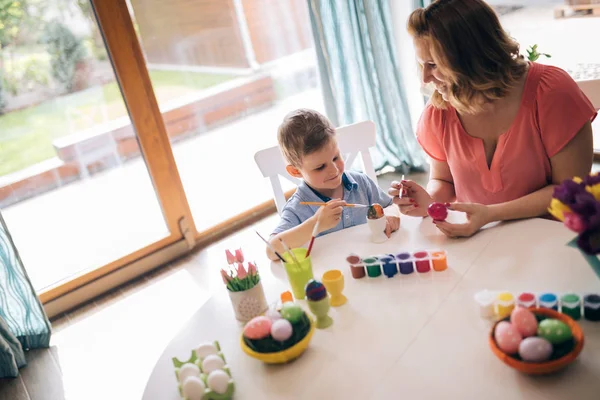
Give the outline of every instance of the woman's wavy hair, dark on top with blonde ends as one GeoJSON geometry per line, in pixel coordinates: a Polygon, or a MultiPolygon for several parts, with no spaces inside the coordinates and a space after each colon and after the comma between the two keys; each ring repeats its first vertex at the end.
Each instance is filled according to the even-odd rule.
{"type": "MultiPolygon", "coordinates": [[[[527,71],[519,44],[482,0],[437,0],[413,11],[407,28],[429,43],[437,68],[450,81],[448,102],[459,112],[476,113],[506,96],[527,71]]],[[[431,103],[447,108],[437,91],[431,103]]]]}

